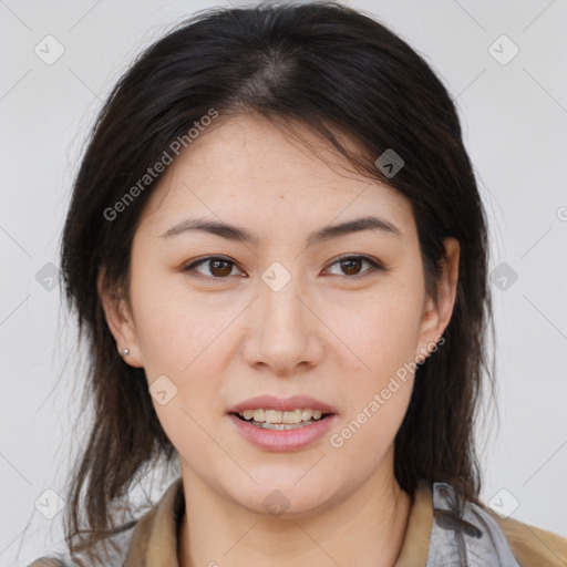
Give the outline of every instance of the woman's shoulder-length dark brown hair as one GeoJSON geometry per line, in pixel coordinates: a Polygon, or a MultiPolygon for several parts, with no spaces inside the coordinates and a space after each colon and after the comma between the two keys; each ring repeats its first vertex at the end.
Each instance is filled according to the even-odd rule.
{"type": "Polygon", "coordinates": [[[328,2],[223,8],[182,22],[137,58],[104,104],[74,183],[62,284],[89,344],[85,399],[96,419],[69,487],[70,550],[89,549],[115,527],[112,512],[127,509],[133,481],[159,458],[176,456],[143,369],[118,355],[96,281],[104,267],[106,289],[127,299],[133,236],[159,176],[120,214],[109,210],[212,109],[219,123],[256,113],[282,127],[305,124],[358,172],[404,195],[433,296],[442,241],[458,240],[453,316],[444,344],[417,368],[395,437],[394,472],[410,494],[424,478],[449,482],[477,501],[474,421],[481,379],[492,380],[494,371],[485,342],[494,329],[485,213],[454,102],[422,56],[353,9],[328,2]],[[339,142],[343,135],[354,151],[339,142]],[[405,162],[393,177],[375,165],[389,148],[405,162]]]}

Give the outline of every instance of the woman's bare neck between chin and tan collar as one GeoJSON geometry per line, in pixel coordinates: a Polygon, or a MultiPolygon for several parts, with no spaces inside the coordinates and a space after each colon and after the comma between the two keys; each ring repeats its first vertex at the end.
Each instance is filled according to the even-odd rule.
{"type": "Polygon", "coordinates": [[[284,567],[291,561],[391,567],[402,548],[411,498],[393,473],[386,481],[383,475],[369,478],[323,513],[296,519],[250,512],[219,496],[190,471],[183,473],[179,567],[284,567]]]}

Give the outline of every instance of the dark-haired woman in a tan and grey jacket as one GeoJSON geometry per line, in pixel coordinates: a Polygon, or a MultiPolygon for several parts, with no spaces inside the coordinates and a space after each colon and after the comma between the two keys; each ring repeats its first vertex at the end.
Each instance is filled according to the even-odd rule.
{"type": "Polygon", "coordinates": [[[377,21],[223,9],[157,41],[101,112],[61,264],[96,421],[70,553],[34,566],[567,560],[478,501],[485,214],[445,87],[377,21]],[[159,457],[179,477],[127,522],[159,457]]]}

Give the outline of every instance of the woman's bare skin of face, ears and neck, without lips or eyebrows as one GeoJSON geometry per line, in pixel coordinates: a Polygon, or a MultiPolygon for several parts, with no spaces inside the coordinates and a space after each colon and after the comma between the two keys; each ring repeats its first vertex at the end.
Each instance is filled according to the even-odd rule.
{"type": "Polygon", "coordinates": [[[148,384],[165,374],[177,388],[165,405],[153,402],[182,463],[182,567],[391,566],[403,543],[411,498],[393,474],[393,442],[413,375],[341,447],[329,437],[435,346],[453,310],[458,243],[444,243],[434,303],[410,203],[342,169],[332,147],[298,128],[332,168],[264,118],[239,116],[202,134],[146,205],[130,302],[100,287],[117,348],[130,349],[125,361],[143,367],[148,384]],[[369,214],[401,236],[364,230],[306,247],[312,230],[369,214]],[[245,227],[259,244],[197,231],[161,237],[197,216],[245,227]],[[343,254],[388,271],[341,266],[343,254]],[[234,264],[183,271],[207,255],[234,264]],[[279,291],[261,279],[275,261],[291,276],[279,291]],[[337,408],[337,423],[301,451],[261,451],[226,411],[265,393],[312,395],[337,408]],[[278,517],[262,505],[274,489],[289,501],[278,517]]]}

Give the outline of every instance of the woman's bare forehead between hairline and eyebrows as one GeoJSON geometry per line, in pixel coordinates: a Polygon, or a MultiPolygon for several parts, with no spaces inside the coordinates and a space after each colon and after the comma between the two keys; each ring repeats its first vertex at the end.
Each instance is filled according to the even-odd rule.
{"type": "MultiPolygon", "coordinates": [[[[399,192],[352,171],[352,166],[308,126],[289,135],[252,115],[205,128],[167,167],[145,208],[156,229],[188,213],[255,223],[330,223],[370,210],[398,225],[413,221],[399,192]],[[395,219],[395,220],[394,220],[395,219]]],[[[341,140],[349,147],[348,140],[341,140]]],[[[352,144],[349,150],[352,150],[352,144]]]]}

